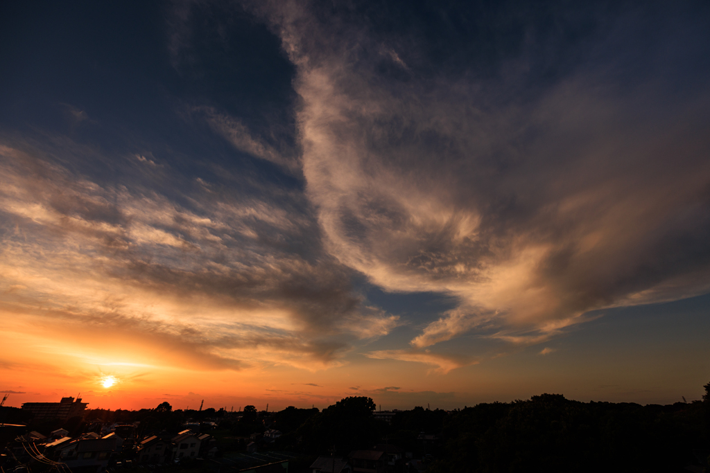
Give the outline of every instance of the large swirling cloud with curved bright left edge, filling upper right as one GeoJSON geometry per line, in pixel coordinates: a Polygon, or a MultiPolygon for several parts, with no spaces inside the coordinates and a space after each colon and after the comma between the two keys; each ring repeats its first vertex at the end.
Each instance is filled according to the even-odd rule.
{"type": "MultiPolygon", "coordinates": [[[[540,343],[594,309],[710,290],[710,143],[697,126],[710,90],[693,82],[664,99],[678,81],[667,71],[694,67],[664,48],[644,52],[650,69],[624,69],[649,27],[641,13],[586,11],[582,33],[550,11],[577,43],[523,21],[515,38],[535,40],[484,60],[474,40],[435,57],[416,26],[395,36],[355,6],[327,20],[315,4],[253,9],[297,67],[303,173],[327,250],[388,291],[459,300],[415,350],[368,356],[445,372],[460,363],[420,350],[481,329],[540,343]],[[553,57],[571,62],[550,79],[553,57]]],[[[490,13],[508,24],[525,9],[490,13]]],[[[661,33],[669,48],[704,34],[679,24],[661,33]]]]}

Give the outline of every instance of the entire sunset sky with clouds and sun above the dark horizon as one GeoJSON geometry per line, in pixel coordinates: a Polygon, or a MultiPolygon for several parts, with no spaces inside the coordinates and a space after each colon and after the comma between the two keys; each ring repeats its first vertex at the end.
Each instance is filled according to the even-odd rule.
{"type": "Polygon", "coordinates": [[[667,404],[710,381],[710,4],[0,6],[0,391],[667,404]]]}

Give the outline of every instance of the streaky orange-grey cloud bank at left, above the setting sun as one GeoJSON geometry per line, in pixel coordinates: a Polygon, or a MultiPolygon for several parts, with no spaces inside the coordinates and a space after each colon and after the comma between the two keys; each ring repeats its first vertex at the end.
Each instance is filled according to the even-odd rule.
{"type": "Polygon", "coordinates": [[[114,340],[149,365],[313,370],[342,365],[351,343],[398,325],[352,291],[297,196],[215,195],[200,179],[178,204],[5,143],[2,306],[40,321],[37,336],[104,352],[113,349],[98,340],[114,340]]]}

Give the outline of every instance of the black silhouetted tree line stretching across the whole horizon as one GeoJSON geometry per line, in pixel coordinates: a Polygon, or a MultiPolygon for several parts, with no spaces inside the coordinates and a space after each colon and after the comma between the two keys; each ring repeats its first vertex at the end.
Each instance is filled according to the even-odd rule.
{"type": "MultiPolygon", "coordinates": [[[[689,464],[710,472],[710,383],[702,401],[667,406],[633,403],[579,402],[560,394],[532,396],[527,401],[483,403],[455,411],[416,407],[400,411],[391,425],[376,420],[368,397],[347,397],[333,406],[276,413],[246,406],[241,413],[173,411],[163,403],[140,411],[87,411],[84,418],[33,423],[40,433],[67,428],[70,435],[89,431],[92,421],[141,422],[142,433],[176,431],[185,421],[219,418],[227,433],[224,451],[242,450],[249,434],[267,428],[283,435],[272,447],[305,455],[347,455],[391,443],[431,455],[430,473],[444,472],[674,472],[689,464]],[[422,440],[420,434],[435,435],[422,440]],[[231,435],[231,436],[230,436],[231,435]],[[241,438],[240,438],[241,437],[241,438]],[[231,440],[226,440],[231,439],[231,440]],[[231,443],[230,443],[231,442],[231,443]]],[[[5,422],[28,421],[16,408],[0,411],[5,422]]]]}

